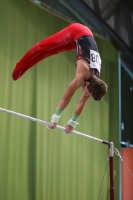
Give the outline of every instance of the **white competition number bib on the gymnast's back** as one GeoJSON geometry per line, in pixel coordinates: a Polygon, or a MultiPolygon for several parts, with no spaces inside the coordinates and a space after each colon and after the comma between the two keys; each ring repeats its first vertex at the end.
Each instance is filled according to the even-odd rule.
{"type": "Polygon", "coordinates": [[[90,68],[96,68],[99,72],[101,69],[101,58],[97,51],[90,50],[90,68]]]}

